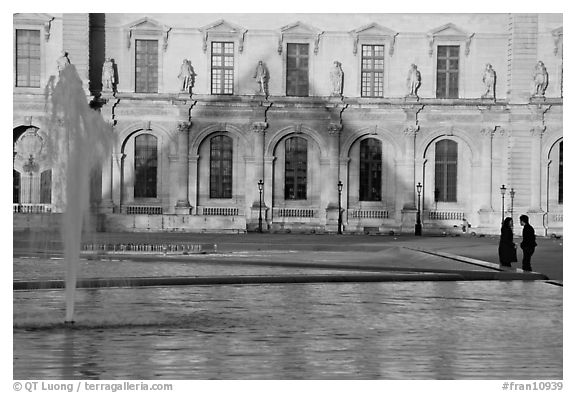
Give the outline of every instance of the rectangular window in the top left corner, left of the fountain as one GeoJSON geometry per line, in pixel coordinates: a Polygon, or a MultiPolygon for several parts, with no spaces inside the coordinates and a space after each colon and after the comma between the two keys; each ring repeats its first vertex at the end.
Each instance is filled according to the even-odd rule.
{"type": "Polygon", "coordinates": [[[40,30],[16,30],[16,86],[40,87],[40,30]]]}

